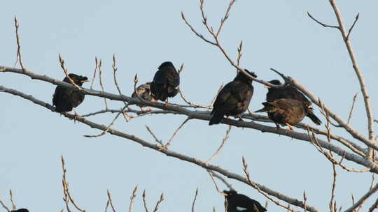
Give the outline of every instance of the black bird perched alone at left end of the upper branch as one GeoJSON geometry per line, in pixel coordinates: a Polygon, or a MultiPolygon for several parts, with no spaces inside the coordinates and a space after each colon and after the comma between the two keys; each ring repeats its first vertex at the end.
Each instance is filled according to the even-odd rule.
{"type": "MultiPolygon", "coordinates": [[[[71,77],[73,82],[75,82],[75,84],[78,86],[82,86],[84,82],[88,82],[87,77],[75,74],[69,74],[69,77],[71,77]]],[[[63,82],[72,84],[68,77],[65,77],[63,82]]],[[[54,96],[52,97],[52,105],[55,105],[56,112],[69,112],[83,103],[84,96],[85,95],[80,93],[80,91],[57,86],[54,96]]]]}

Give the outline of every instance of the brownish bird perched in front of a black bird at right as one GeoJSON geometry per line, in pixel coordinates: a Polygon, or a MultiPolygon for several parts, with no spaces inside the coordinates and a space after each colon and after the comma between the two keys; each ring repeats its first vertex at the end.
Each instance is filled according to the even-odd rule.
{"type": "Polygon", "coordinates": [[[304,119],[309,109],[307,103],[290,98],[280,98],[262,103],[262,105],[264,107],[255,112],[268,112],[268,117],[274,121],[276,129],[279,129],[279,124],[281,124],[281,126],[288,126],[289,130],[294,130],[293,126],[304,119]]]}

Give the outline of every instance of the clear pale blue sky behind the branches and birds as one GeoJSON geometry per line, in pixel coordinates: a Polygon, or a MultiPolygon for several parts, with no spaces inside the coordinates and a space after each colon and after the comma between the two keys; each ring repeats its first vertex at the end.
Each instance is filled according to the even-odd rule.
{"type": "MultiPolygon", "coordinates": [[[[370,91],[374,114],[378,114],[378,53],[376,1],[337,2],[344,23],[351,25],[360,12],[360,20],[351,34],[351,43],[370,91]],[[374,107],[375,106],[375,107],[374,107]]],[[[206,2],[208,21],[218,29],[228,1],[206,2]]],[[[111,57],[116,54],[118,81],[125,94],[133,91],[134,75],[148,82],[160,63],[172,61],[176,68],[185,63],[181,89],[186,97],[209,105],[221,84],[235,77],[235,68],[214,46],[197,38],[181,20],[181,11],[198,31],[204,29],[197,1],[4,1],[0,13],[0,64],[13,66],[17,45],[13,18],[20,22],[22,59],[34,73],[63,79],[58,54],[66,60],[70,73],[92,76],[94,57],[103,61],[106,91],[116,93],[112,83],[111,57]]],[[[241,66],[254,71],[261,79],[276,79],[269,68],[276,68],[298,79],[320,97],[337,114],[347,119],[353,95],[358,92],[351,124],[367,135],[363,99],[346,47],[339,31],[325,29],[307,17],[337,24],[328,1],[237,1],[226,22],[221,41],[230,56],[236,58],[237,45],[244,41],[241,66]]],[[[51,103],[55,86],[37,82],[23,75],[1,73],[0,84],[18,89],[51,103]]],[[[253,83],[252,111],[260,109],[266,89],[253,83]]],[[[85,84],[89,88],[90,84],[85,84]]],[[[95,89],[100,89],[98,81],[95,89]]],[[[135,185],[139,185],[134,211],[143,211],[141,192],[146,189],[150,210],[161,192],[165,201],[160,211],[189,211],[195,189],[199,188],[196,211],[223,211],[219,195],[204,169],[169,158],[126,139],[98,134],[99,130],[73,123],[8,93],[0,93],[0,198],[8,201],[11,188],[18,207],[35,211],[60,211],[62,201],[62,167],[66,158],[71,194],[87,211],[103,211],[106,189],[111,191],[117,211],[126,211],[135,185]]],[[[173,103],[182,103],[176,96],[173,103]]],[[[123,103],[109,101],[113,109],[123,103]]],[[[78,107],[79,114],[104,108],[104,102],[86,96],[78,107]]],[[[135,107],[137,108],[137,107],[135,107]]],[[[321,117],[316,109],[316,114],[321,117]]],[[[92,117],[108,124],[115,114],[92,117]]],[[[125,123],[119,119],[118,130],[153,142],[146,131],[150,126],[167,141],[186,116],[154,115],[125,123]]],[[[321,117],[323,121],[324,118],[321,117]]],[[[309,119],[304,119],[310,123],[309,119]]],[[[274,126],[272,123],[268,125],[274,126]]],[[[202,160],[209,158],[221,144],[228,126],[208,126],[207,121],[192,120],[174,139],[170,149],[202,160]]],[[[322,128],[324,128],[322,126],[322,128]]],[[[301,131],[301,130],[300,130],[301,131]]],[[[335,129],[340,135],[344,130],[335,129]]],[[[332,165],[307,142],[252,129],[232,128],[223,151],[213,160],[215,165],[243,174],[241,157],[248,162],[251,178],[286,195],[302,199],[321,211],[328,211],[332,165]]],[[[353,163],[346,162],[351,167],[353,163]]],[[[360,167],[359,167],[360,168],[360,167]]],[[[336,200],[343,209],[351,206],[351,194],[358,199],[370,186],[370,173],[348,173],[337,167],[336,200]]],[[[265,204],[265,197],[237,181],[229,180],[241,193],[265,204]]],[[[225,185],[218,183],[222,189],[225,185]]],[[[370,198],[368,206],[377,199],[370,198]]],[[[2,209],[1,209],[2,210],[2,209]]],[[[362,211],[366,211],[365,207],[362,211]]],[[[283,211],[269,202],[268,211],[283,211]]]]}

